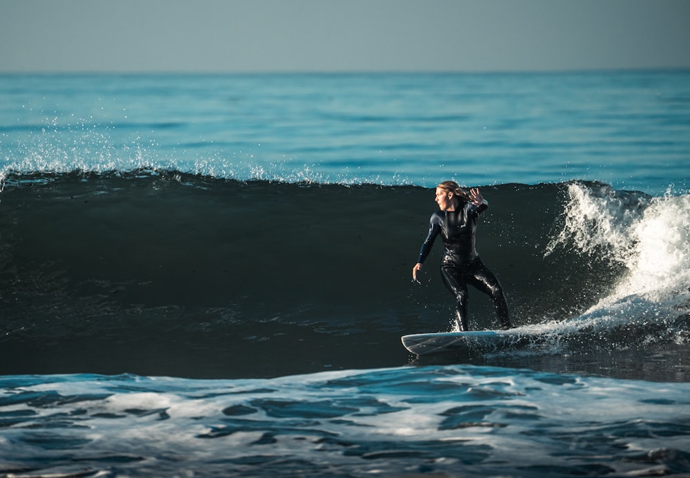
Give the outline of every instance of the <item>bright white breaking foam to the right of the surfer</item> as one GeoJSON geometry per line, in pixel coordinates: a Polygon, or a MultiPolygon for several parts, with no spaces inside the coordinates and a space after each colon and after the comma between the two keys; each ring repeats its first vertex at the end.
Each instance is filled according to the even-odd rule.
{"type": "Polygon", "coordinates": [[[611,294],[571,326],[608,329],[690,313],[689,194],[651,198],[573,183],[568,196],[563,229],[547,254],[570,245],[627,269],[611,294]]]}

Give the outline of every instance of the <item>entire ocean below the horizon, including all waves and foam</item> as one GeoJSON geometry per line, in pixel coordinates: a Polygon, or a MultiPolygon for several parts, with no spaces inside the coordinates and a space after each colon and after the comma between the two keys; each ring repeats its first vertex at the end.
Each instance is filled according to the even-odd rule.
{"type": "Polygon", "coordinates": [[[687,70],[0,75],[0,476],[687,476],[689,166],[687,70]],[[539,341],[402,346],[444,180],[539,341]]]}

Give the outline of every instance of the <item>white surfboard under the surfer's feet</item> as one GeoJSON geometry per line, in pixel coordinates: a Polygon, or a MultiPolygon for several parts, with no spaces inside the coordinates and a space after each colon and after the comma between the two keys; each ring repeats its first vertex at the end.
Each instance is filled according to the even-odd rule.
{"type": "Polygon", "coordinates": [[[520,347],[534,341],[533,334],[509,330],[479,330],[471,332],[438,332],[402,336],[402,345],[417,355],[441,352],[486,353],[520,347]]]}

